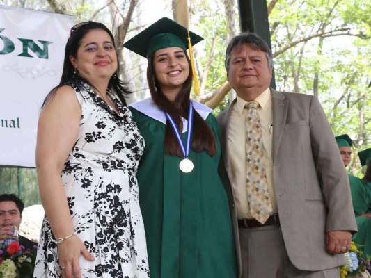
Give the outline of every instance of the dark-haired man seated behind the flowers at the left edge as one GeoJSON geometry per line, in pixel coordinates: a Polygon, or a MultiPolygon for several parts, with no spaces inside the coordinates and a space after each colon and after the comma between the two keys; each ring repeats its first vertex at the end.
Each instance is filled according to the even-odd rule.
{"type": "MultiPolygon", "coordinates": [[[[10,227],[15,226],[19,230],[22,222],[24,204],[15,194],[0,194],[0,240],[10,238],[10,227]]],[[[35,252],[38,243],[19,235],[19,244],[26,250],[35,252]]]]}

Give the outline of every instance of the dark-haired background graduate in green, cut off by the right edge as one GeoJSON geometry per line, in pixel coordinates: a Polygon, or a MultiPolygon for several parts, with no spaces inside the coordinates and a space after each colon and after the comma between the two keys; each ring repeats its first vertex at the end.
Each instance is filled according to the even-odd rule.
{"type": "Polygon", "coordinates": [[[361,246],[364,255],[371,256],[371,148],[358,152],[361,165],[366,167],[362,178],[365,183],[364,190],[359,190],[359,216],[356,217],[358,234],[354,241],[361,246]]]}

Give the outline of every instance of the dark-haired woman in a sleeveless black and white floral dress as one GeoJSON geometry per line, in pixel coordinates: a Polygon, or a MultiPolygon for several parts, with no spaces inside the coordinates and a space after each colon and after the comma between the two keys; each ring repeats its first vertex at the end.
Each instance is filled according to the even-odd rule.
{"type": "Polygon", "coordinates": [[[36,165],[45,208],[35,278],[149,277],[136,169],[144,140],[126,106],[111,31],[72,27],[42,106],[36,165]]]}

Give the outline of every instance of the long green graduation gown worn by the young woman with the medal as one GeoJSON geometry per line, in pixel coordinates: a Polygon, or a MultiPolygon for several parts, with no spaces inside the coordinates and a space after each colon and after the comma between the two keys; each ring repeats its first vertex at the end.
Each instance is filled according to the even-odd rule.
{"type": "MultiPolygon", "coordinates": [[[[218,174],[216,118],[210,108],[192,103],[214,133],[217,152],[211,157],[191,150],[194,170],[187,174],[179,169],[182,158],[164,152],[164,112],[152,99],[130,107],[145,139],[137,179],[151,278],[237,277],[228,197],[218,174]]],[[[182,136],[185,145],[187,131],[182,136]]]]}

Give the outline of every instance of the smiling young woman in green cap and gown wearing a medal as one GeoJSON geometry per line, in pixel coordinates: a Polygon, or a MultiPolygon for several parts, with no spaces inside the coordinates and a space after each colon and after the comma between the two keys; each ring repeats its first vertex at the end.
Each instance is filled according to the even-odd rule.
{"type": "Polygon", "coordinates": [[[203,40],[164,17],[123,44],[148,59],[152,97],[131,111],[145,139],[137,179],[150,276],[233,278],[237,255],[228,187],[218,172],[219,131],[212,110],[190,99],[188,36],[191,44],[203,40]]]}

